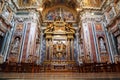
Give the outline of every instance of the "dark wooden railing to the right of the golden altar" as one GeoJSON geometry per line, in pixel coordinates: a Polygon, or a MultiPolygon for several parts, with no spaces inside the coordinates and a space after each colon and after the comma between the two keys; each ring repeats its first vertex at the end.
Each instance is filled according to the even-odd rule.
{"type": "Polygon", "coordinates": [[[120,63],[84,63],[79,66],[79,72],[120,72],[120,63]]]}

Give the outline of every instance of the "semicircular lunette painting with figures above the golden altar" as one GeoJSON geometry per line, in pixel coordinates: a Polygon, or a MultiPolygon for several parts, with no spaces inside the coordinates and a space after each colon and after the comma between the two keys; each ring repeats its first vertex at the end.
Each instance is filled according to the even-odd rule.
{"type": "Polygon", "coordinates": [[[54,20],[55,18],[65,19],[67,21],[74,21],[75,17],[72,12],[63,9],[63,8],[56,8],[54,10],[48,11],[48,13],[45,16],[46,20],[54,20]]]}

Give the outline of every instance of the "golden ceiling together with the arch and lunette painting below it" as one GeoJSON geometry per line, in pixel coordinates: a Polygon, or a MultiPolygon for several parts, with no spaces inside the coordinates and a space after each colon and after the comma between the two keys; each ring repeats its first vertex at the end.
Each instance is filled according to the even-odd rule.
{"type": "Polygon", "coordinates": [[[67,21],[76,21],[76,17],[80,12],[78,10],[101,10],[106,1],[107,0],[13,0],[18,9],[35,9],[40,11],[41,19],[44,21],[53,21],[56,17],[61,17],[67,21]]]}

